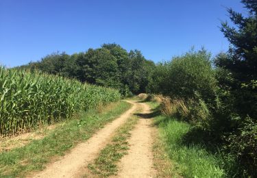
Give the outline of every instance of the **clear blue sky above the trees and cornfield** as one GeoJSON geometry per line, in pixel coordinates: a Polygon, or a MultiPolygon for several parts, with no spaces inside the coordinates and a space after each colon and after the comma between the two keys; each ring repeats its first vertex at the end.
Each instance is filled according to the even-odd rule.
{"type": "Polygon", "coordinates": [[[225,7],[246,14],[239,0],[0,0],[0,64],[71,54],[116,42],[159,62],[195,46],[228,49],[219,30],[225,7]]]}

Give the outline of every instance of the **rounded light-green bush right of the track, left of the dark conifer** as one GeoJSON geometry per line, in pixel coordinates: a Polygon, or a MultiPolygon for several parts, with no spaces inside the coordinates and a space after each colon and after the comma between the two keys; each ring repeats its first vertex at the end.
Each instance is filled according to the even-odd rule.
{"type": "Polygon", "coordinates": [[[210,53],[205,50],[189,51],[160,63],[152,74],[148,90],[171,98],[198,99],[213,103],[217,80],[212,69],[210,53]]]}

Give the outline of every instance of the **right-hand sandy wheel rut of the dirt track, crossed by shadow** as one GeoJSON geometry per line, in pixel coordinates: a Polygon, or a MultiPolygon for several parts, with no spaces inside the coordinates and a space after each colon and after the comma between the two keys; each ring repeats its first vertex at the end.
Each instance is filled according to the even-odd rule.
{"type": "Polygon", "coordinates": [[[121,169],[117,177],[154,177],[153,153],[151,151],[154,140],[154,127],[151,125],[152,120],[149,114],[150,108],[145,103],[143,113],[135,129],[132,130],[132,136],[129,140],[130,150],[128,154],[121,159],[119,168],[121,169]]]}

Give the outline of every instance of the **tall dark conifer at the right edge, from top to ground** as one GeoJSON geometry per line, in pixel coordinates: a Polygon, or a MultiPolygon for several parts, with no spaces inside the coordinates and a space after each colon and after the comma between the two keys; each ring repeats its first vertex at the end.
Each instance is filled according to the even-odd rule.
{"type": "MultiPolygon", "coordinates": [[[[256,177],[257,168],[257,1],[242,0],[248,16],[228,9],[234,27],[222,23],[221,31],[231,47],[226,55],[215,60],[219,76],[218,121],[228,121],[225,128],[225,146],[234,153],[243,167],[243,177],[256,177]],[[230,74],[232,76],[230,76],[230,74]]],[[[217,131],[217,129],[216,129],[217,131]]],[[[224,131],[217,131],[224,132],[224,131]]]]}

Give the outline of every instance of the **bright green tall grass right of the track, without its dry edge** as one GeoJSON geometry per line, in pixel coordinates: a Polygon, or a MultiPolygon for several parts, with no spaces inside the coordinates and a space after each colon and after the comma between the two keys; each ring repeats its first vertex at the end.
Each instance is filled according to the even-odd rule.
{"type": "Polygon", "coordinates": [[[167,145],[167,152],[175,162],[178,172],[184,177],[226,177],[225,170],[220,166],[222,160],[219,155],[208,153],[200,144],[187,144],[184,136],[191,130],[188,123],[174,118],[165,120],[164,116],[159,120],[162,138],[167,145]],[[162,121],[160,121],[162,120],[162,121]]]}

